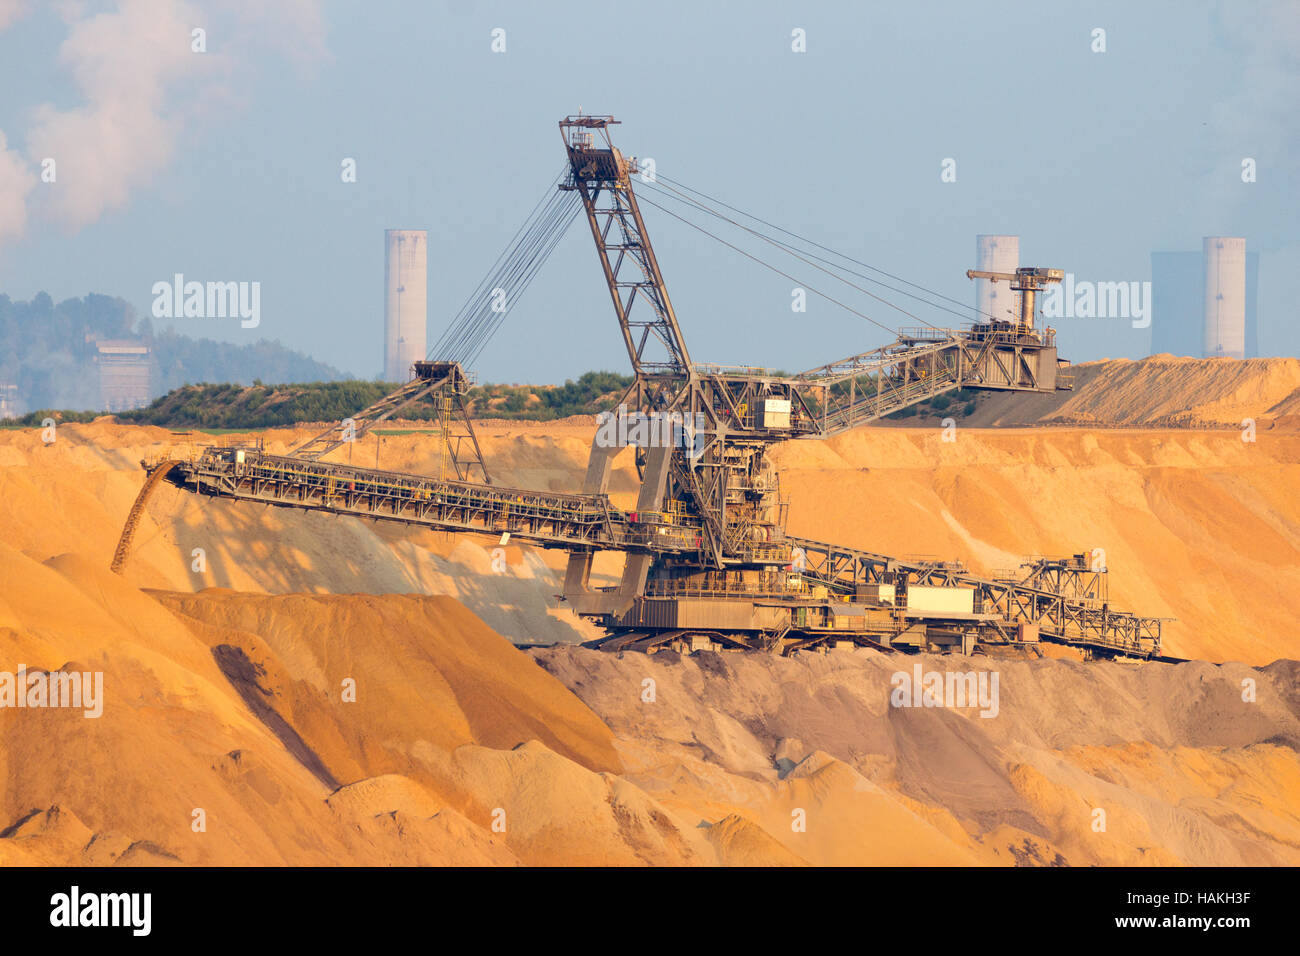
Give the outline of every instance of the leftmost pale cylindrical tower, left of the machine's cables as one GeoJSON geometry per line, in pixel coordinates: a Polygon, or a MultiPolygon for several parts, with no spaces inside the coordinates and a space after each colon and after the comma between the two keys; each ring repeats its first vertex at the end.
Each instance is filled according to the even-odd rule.
{"type": "Polygon", "coordinates": [[[425,358],[429,234],[424,229],[384,233],[384,380],[404,382],[425,358]]]}

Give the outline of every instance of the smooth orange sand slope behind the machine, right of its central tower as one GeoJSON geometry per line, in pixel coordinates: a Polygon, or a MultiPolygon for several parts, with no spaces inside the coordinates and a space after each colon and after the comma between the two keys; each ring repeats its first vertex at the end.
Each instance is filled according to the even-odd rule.
{"type": "Polygon", "coordinates": [[[1166,649],[1300,657],[1300,434],[861,429],[776,453],[792,532],[989,572],[1105,550],[1115,605],[1166,649]]]}

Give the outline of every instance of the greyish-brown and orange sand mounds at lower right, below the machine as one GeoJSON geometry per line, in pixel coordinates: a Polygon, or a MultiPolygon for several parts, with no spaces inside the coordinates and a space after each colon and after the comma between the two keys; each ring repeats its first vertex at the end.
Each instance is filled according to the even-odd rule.
{"type": "Polygon", "coordinates": [[[720,827],[724,860],[771,858],[758,827],[815,865],[1300,861],[1296,662],[530,653],[616,732],[629,780],[720,827]],[[996,715],[890,706],[892,675],[918,663],[994,669],[996,715]],[[811,749],[783,771],[793,739],[811,749]]]}

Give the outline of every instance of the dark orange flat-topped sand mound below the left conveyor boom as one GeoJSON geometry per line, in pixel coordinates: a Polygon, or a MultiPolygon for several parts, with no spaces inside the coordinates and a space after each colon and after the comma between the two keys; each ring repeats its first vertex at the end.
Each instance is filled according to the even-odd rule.
{"type": "Polygon", "coordinates": [[[255,662],[337,780],[419,773],[416,741],[450,752],[537,737],[593,770],[619,766],[599,719],[451,598],[151,593],[255,662]]]}

